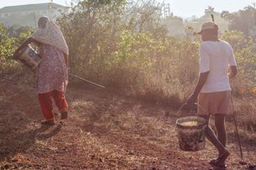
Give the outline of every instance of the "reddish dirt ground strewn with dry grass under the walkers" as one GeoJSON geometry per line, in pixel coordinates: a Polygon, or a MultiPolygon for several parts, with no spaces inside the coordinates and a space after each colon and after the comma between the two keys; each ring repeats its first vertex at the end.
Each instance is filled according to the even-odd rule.
{"type": "MultiPolygon", "coordinates": [[[[58,114],[56,125],[41,126],[43,116],[33,85],[0,78],[1,170],[211,168],[208,162],[217,153],[208,141],[199,152],[179,149],[177,111],[115,90],[71,84],[67,121],[60,121],[58,114]]],[[[234,129],[228,130],[232,154],[227,169],[247,169],[239,161],[256,162],[256,142],[242,137],[240,158],[234,129]]]]}

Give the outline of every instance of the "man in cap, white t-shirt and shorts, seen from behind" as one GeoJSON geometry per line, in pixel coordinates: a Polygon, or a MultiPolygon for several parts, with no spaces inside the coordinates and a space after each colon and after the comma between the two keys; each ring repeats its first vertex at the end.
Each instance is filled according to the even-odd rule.
{"type": "Polygon", "coordinates": [[[226,148],[225,116],[229,113],[231,99],[229,80],[237,75],[237,64],[232,46],[218,38],[216,23],[203,23],[199,34],[203,41],[200,45],[200,76],[187,103],[198,100],[198,116],[205,118],[207,124],[211,115],[215,117],[217,137],[210,126],[205,130],[207,139],[219,152],[210,163],[215,167],[226,167],[230,153],[226,148]]]}

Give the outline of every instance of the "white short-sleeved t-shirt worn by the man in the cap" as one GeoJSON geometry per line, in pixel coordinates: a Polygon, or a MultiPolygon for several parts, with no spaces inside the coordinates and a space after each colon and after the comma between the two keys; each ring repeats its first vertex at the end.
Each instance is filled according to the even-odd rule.
{"type": "Polygon", "coordinates": [[[201,93],[231,90],[228,66],[237,65],[230,44],[225,41],[205,41],[200,45],[200,73],[209,71],[201,93]]]}

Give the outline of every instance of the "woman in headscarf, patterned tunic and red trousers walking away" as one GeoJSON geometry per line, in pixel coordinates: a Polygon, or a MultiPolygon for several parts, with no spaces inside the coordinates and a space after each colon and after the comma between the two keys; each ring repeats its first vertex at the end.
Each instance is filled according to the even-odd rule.
{"type": "Polygon", "coordinates": [[[39,19],[38,29],[14,52],[14,59],[21,49],[32,42],[40,48],[41,61],[35,75],[36,92],[45,116],[45,121],[41,123],[53,125],[55,120],[51,97],[61,112],[61,119],[67,118],[67,100],[64,95],[67,87],[67,43],[60,28],[47,17],[39,19]]]}

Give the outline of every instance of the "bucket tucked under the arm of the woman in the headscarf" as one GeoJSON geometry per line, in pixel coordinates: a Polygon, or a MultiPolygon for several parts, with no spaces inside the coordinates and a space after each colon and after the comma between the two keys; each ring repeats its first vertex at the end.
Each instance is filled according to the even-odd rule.
{"type": "Polygon", "coordinates": [[[18,59],[26,64],[31,70],[35,70],[41,61],[40,55],[30,44],[19,52],[18,59]]]}

